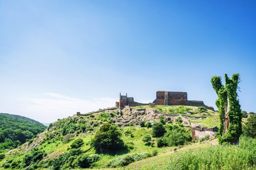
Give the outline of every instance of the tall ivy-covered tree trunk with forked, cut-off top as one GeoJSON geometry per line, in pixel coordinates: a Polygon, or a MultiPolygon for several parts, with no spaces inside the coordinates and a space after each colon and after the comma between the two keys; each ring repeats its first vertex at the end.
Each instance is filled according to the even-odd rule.
{"type": "Polygon", "coordinates": [[[242,114],[236,92],[239,80],[239,74],[233,74],[231,79],[225,74],[225,86],[222,85],[220,76],[214,76],[211,80],[218,95],[216,105],[220,119],[219,143],[239,144],[242,134],[242,114]]]}

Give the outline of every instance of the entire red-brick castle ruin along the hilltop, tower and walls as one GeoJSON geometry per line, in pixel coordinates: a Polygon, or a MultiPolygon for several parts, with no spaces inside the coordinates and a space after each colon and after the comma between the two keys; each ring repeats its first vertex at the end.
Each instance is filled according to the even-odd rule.
{"type": "MultiPolygon", "coordinates": [[[[188,101],[187,92],[174,92],[174,91],[157,91],[156,100],[153,102],[156,105],[189,105],[189,106],[203,106],[207,109],[214,110],[213,107],[207,106],[203,101],[188,101]]],[[[115,106],[119,109],[128,106],[148,105],[149,103],[135,102],[133,97],[127,97],[119,94],[119,102],[115,103],[115,106]]]]}

